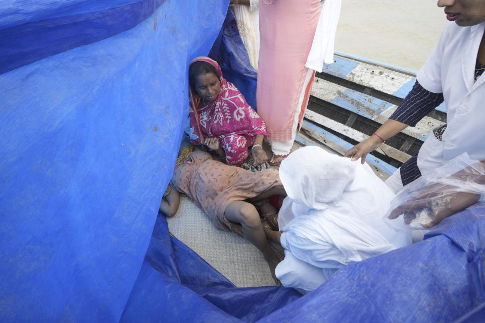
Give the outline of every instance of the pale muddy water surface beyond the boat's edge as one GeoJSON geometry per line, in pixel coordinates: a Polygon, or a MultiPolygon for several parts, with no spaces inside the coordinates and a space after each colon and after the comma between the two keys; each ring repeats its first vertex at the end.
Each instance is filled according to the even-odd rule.
{"type": "Polygon", "coordinates": [[[447,24],[434,0],[343,0],[335,50],[419,70],[447,24]]]}

